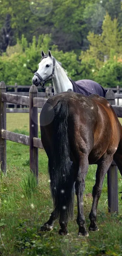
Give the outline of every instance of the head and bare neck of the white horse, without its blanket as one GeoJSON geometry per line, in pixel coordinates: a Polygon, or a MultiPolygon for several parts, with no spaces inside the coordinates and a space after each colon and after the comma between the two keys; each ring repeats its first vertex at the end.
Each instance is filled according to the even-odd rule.
{"type": "Polygon", "coordinates": [[[41,51],[41,56],[42,60],[38,64],[39,68],[32,78],[32,83],[38,86],[42,82],[42,88],[44,88],[45,82],[52,79],[54,94],[66,92],[68,89],[73,91],[73,85],[66,71],[61,67],[61,63],[53,58],[50,50],[48,50],[47,58],[45,58],[46,54],[43,51],[41,51]]]}

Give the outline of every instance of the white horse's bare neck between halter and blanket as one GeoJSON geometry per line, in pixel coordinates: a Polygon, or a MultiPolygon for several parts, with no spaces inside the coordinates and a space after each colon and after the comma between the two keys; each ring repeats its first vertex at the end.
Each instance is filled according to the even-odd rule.
{"type": "Polygon", "coordinates": [[[68,89],[73,90],[73,85],[71,81],[69,80],[65,71],[58,64],[57,61],[55,62],[55,71],[54,71],[54,77],[52,81],[53,81],[53,87],[54,87],[54,94],[58,92],[66,92],[68,89]]]}

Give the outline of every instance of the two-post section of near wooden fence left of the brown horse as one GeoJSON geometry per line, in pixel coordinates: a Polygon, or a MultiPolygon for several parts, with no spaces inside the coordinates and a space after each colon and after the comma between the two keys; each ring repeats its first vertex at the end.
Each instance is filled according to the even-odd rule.
{"type": "Polygon", "coordinates": [[[0,83],[0,163],[6,174],[6,139],[30,146],[30,170],[38,181],[38,148],[44,149],[38,138],[38,107],[42,108],[47,99],[38,98],[38,89],[32,85],[29,96],[6,93],[4,82],[0,83]],[[29,106],[29,136],[6,130],[6,102],[29,106]]]}

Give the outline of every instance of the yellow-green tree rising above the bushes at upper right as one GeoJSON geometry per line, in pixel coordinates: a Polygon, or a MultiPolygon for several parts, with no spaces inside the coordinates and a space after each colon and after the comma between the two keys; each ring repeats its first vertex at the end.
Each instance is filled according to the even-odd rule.
{"type": "Polygon", "coordinates": [[[89,32],[87,39],[90,42],[90,47],[86,52],[82,51],[80,56],[80,59],[86,61],[94,59],[97,68],[103,65],[104,56],[110,57],[112,50],[116,54],[122,51],[122,32],[118,28],[117,19],[112,21],[107,13],[104,17],[102,31],[101,35],[89,32]]]}

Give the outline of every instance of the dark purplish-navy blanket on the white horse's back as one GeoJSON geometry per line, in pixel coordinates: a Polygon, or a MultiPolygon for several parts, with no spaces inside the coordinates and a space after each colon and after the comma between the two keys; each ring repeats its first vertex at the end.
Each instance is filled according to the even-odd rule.
{"type": "Polygon", "coordinates": [[[106,91],[104,88],[98,83],[92,80],[78,80],[74,82],[71,78],[69,78],[73,85],[73,91],[77,93],[81,93],[83,95],[89,96],[91,94],[98,94],[101,97],[105,97],[106,91]]]}

